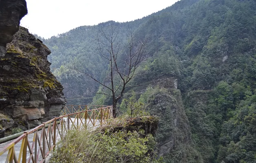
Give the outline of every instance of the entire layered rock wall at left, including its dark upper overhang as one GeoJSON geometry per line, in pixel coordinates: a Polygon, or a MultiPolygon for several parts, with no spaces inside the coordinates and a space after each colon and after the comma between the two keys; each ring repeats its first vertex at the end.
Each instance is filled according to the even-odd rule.
{"type": "Polygon", "coordinates": [[[13,134],[57,117],[66,103],[63,87],[50,72],[51,51],[19,27],[26,13],[25,0],[0,0],[0,137],[5,129],[13,134]]]}

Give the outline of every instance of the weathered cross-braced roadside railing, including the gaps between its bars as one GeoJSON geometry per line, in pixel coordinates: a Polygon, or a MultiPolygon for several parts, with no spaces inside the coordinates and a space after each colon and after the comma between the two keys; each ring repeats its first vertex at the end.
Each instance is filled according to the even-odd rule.
{"type": "Polygon", "coordinates": [[[113,117],[113,107],[65,106],[62,113],[71,114],[51,119],[32,130],[25,131],[20,137],[1,149],[0,156],[8,152],[5,163],[45,163],[57,141],[62,139],[68,130],[87,128],[90,124],[92,126],[102,126],[106,119],[113,117]],[[69,110],[70,108],[81,108],[81,110],[75,109],[72,112],[69,110]],[[69,112],[65,112],[65,110],[69,110],[69,112]],[[31,138],[31,141],[29,141],[29,138],[31,138]],[[15,151],[15,148],[19,148],[19,150],[15,151]]]}

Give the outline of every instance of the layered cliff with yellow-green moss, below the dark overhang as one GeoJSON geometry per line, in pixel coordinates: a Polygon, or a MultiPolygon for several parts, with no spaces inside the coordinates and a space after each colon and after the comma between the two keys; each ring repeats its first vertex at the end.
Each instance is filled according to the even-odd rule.
{"type": "Polygon", "coordinates": [[[50,72],[50,53],[20,27],[7,44],[6,55],[0,57],[0,113],[11,117],[15,127],[38,126],[57,117],[66,103],[62,85],[50,72]]]}

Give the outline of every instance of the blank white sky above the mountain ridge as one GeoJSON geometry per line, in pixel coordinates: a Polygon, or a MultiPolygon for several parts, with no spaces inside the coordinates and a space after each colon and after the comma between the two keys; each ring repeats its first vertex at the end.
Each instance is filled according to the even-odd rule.
{"type": "Polygon", "coordinates": [[[165,9],[178,0],[26,0],[21,26],[44,38],[108,20],[127,22],[165,9]]]}

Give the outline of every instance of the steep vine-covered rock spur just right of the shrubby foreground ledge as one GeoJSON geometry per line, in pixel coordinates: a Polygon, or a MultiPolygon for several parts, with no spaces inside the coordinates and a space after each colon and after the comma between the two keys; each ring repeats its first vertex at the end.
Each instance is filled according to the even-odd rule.
{"type": "Polygon", "coordinates": [[[190,162],[190,158],[198,160],[180,91],[155,88],[147,100],[148,112],[160,119],[156,132],[158,156],[175,163],[190,162]]]}

